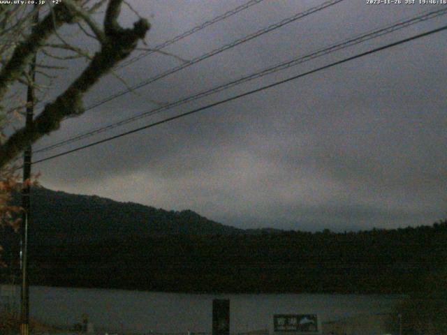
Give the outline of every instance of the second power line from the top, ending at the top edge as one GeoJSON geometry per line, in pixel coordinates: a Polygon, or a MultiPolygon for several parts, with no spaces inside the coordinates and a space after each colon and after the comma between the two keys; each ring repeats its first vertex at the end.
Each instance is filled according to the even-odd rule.
{"type": "Polygon", "coordinates": [[[286,24],[289,24],[291,22],[294,22],[296,20],[300,20],[302,17],[306,17],[308,15],[312,15],[313,13],[316,13],[320,10],[323,10],[325,8],[328,8],[330,6],[335,5],[336,3],[342,2],[344,0],[330,0],[330,1],[325,1],[324,3],[322,3],[319,6],[315,6],[313,8],[310,8],[308,10],[305,10],[304,12],[295,14],[291,17],[288,17],[280,22],[277,22],[275,24],[270,24],[270,26],[263,28],[261,30],[258,30],[252,34],[249,34],[247,36],[244,36],[243,38],[240,38],[238,40],[235,40],[231,43],[228,43],[226,45],[223,45],[222,47],[219,47],[217,49],[214,49],[210,52],[207,52],[205,54],[202,54],[194,59],[192,59],[191,61],[187,61],[184,64],[181,64],[179,66],[175,66],[174,68],[170,68],[169,70],[166,70],[162,73],[160,73],[159,75],[156,75],[154,77],[151,77],[143,82],[140,82],[139,84],[135,84],[132,87],[129,87],[129,89],[125,89],[124,91],[120,91],[117,92],[115,94],[112,94],[110,96],[108,96],[107,98],[104,98],[101,101],[98,101],[97,103],[94,103],[92,105],[89,105],[88,107],[85,108],[85,110],[92,110],[93,108],[96,108],[100,105],[103,105],[104,103],[108,103],[108,101],[112,101],[115,98],[118,98],[119,96],[124,96],[124,94],[128,94],[131,91],[134,91],[135,89],[140,89],[141,87],[146,86],[147,84],[151,84],[152,82],[156,82],[157,80],[160,80],[164,77],[167,77],[168,75],[171,75],[173,73],[176,73],[179,70],[183,70],[184,68],[187,68],[193,64],[197,64],[200,61],[204,61],[205,59],[208,59],[212,56],[215,56],[216,54],[220,54],[221,52],[224,52],[228,49],[231,49],[233,47],[236,47],[237,45],[240,45],[242,43],[248,42],[249,40],[252,40],[254,38],[257,38],[258,36],[264,35],[269,33],[270,31],[273,31],[275,29],[281,28],[283,26],[285,26],[286,24]]]}

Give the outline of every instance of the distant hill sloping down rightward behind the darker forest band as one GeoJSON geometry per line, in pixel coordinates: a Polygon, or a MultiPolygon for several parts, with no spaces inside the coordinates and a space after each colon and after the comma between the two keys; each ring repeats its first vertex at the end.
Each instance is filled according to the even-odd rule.
{"type": "MultiPolygon", "coordinates": [[[[15,195],[20,204],[20,196],[15,195]]],[[[96,195],[74,195],[38,187],[32,189],[30,241],[61,244],[133,239],[167,234],[238,234],[194,211],[166,211],[96,195]]]]}

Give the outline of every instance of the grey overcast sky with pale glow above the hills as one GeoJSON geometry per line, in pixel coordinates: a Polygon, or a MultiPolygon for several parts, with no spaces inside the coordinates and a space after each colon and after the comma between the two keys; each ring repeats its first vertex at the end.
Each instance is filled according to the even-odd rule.
{"type": "MultiPolygon", "coordinates": [[[[246,1],[130,0],[153,47],[246,1]]],[[[167,47],[194,57],[323,3],[264,0],[167,47]]],[[[345,0],[66,120],[35,148],[110,124],[443,5],[345,0]]],[[[445,7],[445,6],[444,6],[445,7]]],[[[122,22],[135,15],[124,8],[122,22]]],[[[446,24],[447,15],[161,112],[35,159],[298,75],[446,24]]],[[[78,38],[78,36],[75,36],[78,38]]],[[[365,230],[446,218],[447,32],[34,166],[43,186],[163,209],[238,228],[365,230]]],[[[138,54],[138,52],[136,53],[138,54]]],[[[181,64],[152,54],[117,70],[137,84],[181,64]]],[[[72,66],[71,75],[81,69],[72,66]]],[[[69,76],[68,76],[69,77],[69,76]]],[[[63,78],[60,86],[68,82],[63,78]]],[[[125,89],[108,76],[86,105],[125,89]]]]}

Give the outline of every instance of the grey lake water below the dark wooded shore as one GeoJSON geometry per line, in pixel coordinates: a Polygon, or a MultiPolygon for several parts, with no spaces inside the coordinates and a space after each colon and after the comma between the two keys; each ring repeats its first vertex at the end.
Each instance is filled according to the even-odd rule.
{"type": "Polygon", "coordinates": [[[30,288],[30,313],[51,325],[80,323],[87,313],[109,332],[211,332],[212,299],[230,299],[230,332],[273,329],[274,314],[318,314],[321,322],[390,313],[402,297],[318,294],[184,294],[84,288],[30,288]]]}

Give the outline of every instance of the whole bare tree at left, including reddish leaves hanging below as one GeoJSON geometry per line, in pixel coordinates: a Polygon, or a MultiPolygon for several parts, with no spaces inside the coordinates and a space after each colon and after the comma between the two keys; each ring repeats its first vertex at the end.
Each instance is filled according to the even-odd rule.
{"type": "Polygon", "coordinates": [[[54,6],[41,6],[38,22],[32,20],[34,10],[38,10],[34,6],[0,4],[0,225],[16,225],[13,213],[20,210],[8,204],[10,192],[20,185],[12,168],[14,159],[30,144],[56,131],[64,119],[82,114],[82,98],[87,91],[144,40],[149,30],[147,20],[139,17],[131,28],[118,23],[123,3],[124,0],[63,0],[54,6]],[[94,20],[98,15],[103,18],[102,24],[94,20]],[[96,50],[89,52],[82,43],[68,42],[64,27],[80,32],[81,40],[94,38],[96,50]],[[46,79],[44,84],[36,84],[29,73],[36,52],[40,55],[36,73],[46,79]],[[87,61],[82,72],[64,91],[44,103],[52,79],[64,70],[57,61],[79,58],[87,61]],[[40,104],[41,112],[28,126],[14,128],[15,120],[29,104],[24,94],[29,84],[39,93],[33,104],[40,104]]]}

